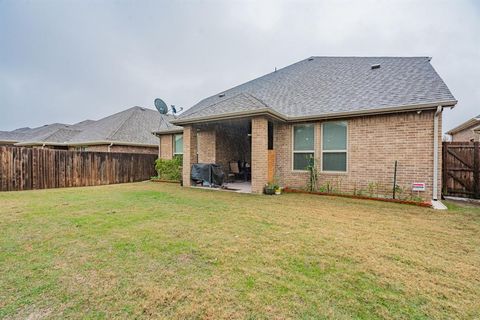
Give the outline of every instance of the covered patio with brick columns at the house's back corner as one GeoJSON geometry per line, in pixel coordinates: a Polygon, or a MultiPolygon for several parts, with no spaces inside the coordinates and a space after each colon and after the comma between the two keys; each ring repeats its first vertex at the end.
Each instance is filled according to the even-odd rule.
{"type": "Polygon", "coordinates": [[[184,186],[197,186],[191,179],[197,163],[221,168],[223,190],[262,193],[274,176],[273,121],[257,116],[184,125],[184,186]]]}

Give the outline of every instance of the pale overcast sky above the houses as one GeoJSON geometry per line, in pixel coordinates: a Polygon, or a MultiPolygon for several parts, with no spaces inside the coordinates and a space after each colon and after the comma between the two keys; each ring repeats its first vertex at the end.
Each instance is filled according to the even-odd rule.
{"type": "Polygon", "coordinates": [[[309,56],[431,56],[480,114],[479,1],[0,0],[0,130],[200,99],[309,56]]]}

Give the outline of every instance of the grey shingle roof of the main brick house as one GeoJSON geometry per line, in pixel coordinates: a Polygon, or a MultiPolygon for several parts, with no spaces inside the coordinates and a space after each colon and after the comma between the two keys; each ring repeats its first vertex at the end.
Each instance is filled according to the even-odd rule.
{"type": "Polygon", "coordinates": [[[455,105],[430,60],[311,57],[203,99],[173,123],[259,112],[294,120],[455,105]]]}

